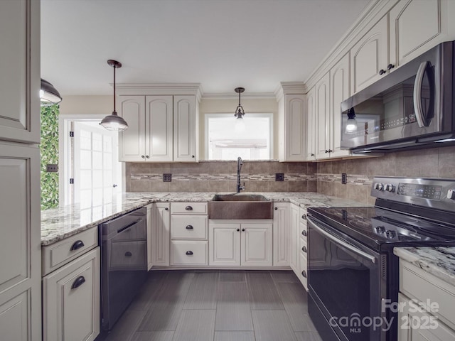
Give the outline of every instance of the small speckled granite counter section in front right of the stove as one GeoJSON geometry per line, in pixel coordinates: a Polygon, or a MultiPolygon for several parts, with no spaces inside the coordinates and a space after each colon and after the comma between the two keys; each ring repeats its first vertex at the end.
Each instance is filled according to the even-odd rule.
{"type": "Polygon", "coordinates": [[[395,247],[393,253],[455,286],[455,247],[395,247]]]}

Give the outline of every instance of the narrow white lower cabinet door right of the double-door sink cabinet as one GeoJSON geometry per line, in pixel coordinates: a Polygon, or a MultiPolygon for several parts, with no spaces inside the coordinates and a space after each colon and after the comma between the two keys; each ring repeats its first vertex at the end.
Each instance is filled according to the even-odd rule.
{"type": "Polygon", "coordinates": [[[273,212],[273,265],[289,266],[291,254],[291,224],[289,224],[289,202],[277,202],[273,212]]]}

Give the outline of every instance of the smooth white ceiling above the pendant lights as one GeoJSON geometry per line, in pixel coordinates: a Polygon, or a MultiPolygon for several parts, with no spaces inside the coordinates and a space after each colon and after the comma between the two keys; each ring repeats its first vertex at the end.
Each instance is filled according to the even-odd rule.
{"type": "Polygon", "coordinates": [[[41,0],[41,77],[63,95],[117,82],[204,93],[304,81],[370,0],[41,0]]]}

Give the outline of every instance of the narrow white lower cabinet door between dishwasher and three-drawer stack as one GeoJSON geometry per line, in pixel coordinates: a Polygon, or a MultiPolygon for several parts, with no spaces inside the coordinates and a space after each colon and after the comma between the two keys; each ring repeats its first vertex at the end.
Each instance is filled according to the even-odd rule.
{"type": "Polygon", "coordinates": [[[156,202],[152,209],[153,265],[169,265],[169,235],[171,215],[168,202],[156,202]]]}

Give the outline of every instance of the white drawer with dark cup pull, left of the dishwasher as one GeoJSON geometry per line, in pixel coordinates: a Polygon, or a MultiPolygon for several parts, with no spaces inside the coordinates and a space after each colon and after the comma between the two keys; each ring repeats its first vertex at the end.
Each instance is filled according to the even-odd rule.
{"type": "Polygon", "coordinates": [[[87,231],[75,234],[72,237],[63,239],[55,244],[42,247],[41,256],[43,259],[43,276],[58,269],[77,256],[87,252],[98,245],[98,229],[93,227],[87,231]]]}

